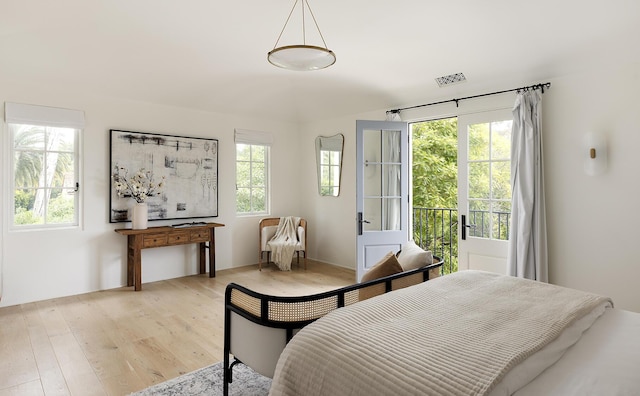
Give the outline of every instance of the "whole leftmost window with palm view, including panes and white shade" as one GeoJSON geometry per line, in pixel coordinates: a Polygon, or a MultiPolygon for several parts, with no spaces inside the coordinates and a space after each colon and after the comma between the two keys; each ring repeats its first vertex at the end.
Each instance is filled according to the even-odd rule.
{"type": "Polygon", "coordinates": [[[79,224],[79,138],[84,113],[5,105],[14,229],[79,224]]]}

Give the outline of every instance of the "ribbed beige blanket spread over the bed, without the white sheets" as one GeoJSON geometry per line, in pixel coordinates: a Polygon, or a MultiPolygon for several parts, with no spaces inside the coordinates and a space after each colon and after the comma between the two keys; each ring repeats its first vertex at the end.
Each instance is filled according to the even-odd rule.
{"type": "Polygon", "coordinates": [[[341,308],[302,329],[270,395],[487,394],[512,367],[610,300],[463,271],[341,308]]]}

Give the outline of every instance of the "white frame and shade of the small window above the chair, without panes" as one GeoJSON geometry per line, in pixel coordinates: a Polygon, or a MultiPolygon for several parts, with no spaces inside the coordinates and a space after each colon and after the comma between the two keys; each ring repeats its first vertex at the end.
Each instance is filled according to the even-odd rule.
{"type": "MultiPolygon", "coordinates": [[[[265,202],[264,207],[265,210],[254,210],[253,208],[248,212],[239,212],[237,206],[238,195],[236,194],[236,215],[237,216],[256,216],[256,215],[268,215],[271,211],[271,188],[270,188],[270,180],[271,180],[271,144],[273,142],[273,136],[268,132],[258,132],[258,131],[250,131],[246,129],[236,129],[235,130],[235,144],[236,144],[236,182],[238,177],[238,145],[248,145],[248,146],[263,146],[265,148],[263,165],[265,169],[265,184],[264,186],[259,186],[260,188],[264,188],[265,192],[265,202]]],[[[251,149],[251,147],[250,147],[251,149]]],[[[250,159],[250,162],[254,162],[250,159]]],[[[251,182],[250,182],[251,183],[251,182]]],[[[250,184],[249,189],[252,190],[253,186],[250,184]]],[[[236,187],[237,191],[237,187],[236,187]]],[[[250,193],[250,195],[253,195],[250,193]]],[[[252,200],[253,201],[253,200],[252,200]]]]}

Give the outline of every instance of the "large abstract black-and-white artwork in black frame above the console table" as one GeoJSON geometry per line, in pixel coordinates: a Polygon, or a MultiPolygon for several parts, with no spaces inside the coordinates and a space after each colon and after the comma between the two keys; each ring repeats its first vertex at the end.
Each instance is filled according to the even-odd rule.
{"type": "Polygon", "coordinates": [[[136,203],[118,196],[114,180],[139,173],[155,185],[145,199],[149,220],[218,216],[217,139],[111,129],[110,140],[110,223],[131,221],[136,203]]]}

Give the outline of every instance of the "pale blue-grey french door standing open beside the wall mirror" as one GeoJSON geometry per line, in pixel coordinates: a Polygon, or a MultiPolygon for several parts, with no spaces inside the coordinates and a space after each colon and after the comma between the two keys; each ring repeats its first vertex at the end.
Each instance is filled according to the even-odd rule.
{"type": "Polygon", "coordinates": [[[356,121],[356,277],[408,238],[406,122],[356,121]]]}

